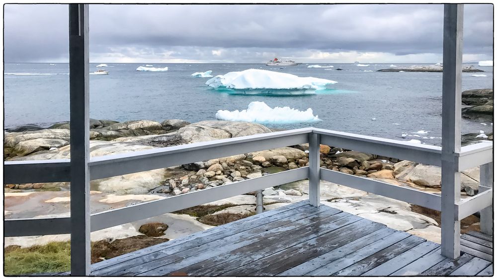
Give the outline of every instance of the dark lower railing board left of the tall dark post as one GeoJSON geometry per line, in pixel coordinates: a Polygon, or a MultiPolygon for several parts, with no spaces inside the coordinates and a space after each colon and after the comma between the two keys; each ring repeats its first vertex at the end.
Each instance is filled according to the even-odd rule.
{"type": "Polygon", "coordinates": [[[3,237],[67,234],[70,229],[70,217],[3,221],[3,237]]]}

